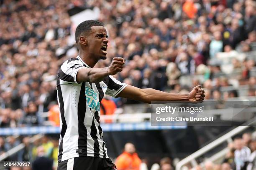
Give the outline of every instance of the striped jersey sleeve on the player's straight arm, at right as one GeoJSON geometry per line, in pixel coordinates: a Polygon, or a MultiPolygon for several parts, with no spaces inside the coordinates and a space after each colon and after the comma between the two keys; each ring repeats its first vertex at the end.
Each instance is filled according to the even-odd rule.
{"type": "Polygon", "coordinates": [[[108,76],[108,88],[105,94],[116,97],[126,86],[127,84],[116,80],[115,77],[110,75],[108,76]]]}

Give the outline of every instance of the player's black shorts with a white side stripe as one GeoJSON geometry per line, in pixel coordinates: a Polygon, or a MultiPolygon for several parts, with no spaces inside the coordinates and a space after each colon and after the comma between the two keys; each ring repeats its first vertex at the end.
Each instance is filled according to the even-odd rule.
{"type": "Polygon", "coordinates": [[[110,158],[80,156],[58,163],[57,170],[117,170],[110,158]]]}

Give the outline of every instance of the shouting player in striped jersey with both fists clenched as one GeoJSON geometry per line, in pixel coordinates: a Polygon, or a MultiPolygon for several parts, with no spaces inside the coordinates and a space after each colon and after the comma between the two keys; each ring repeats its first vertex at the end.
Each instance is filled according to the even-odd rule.
{"type": "Polygon", "coordinates": [[[105,94],[131,100],[202,102],[200,85],[189,94],[140,89],[121,83],[112,75],[122,71],[125,60],[113,58],[109,67],[93,68],[105,60],[108,35],[104,25],[87,20],[75,32],[79,55],[65,61],[57,76],[61,135],[58,170],[117,170],[107,154],[100,127],[100,102],[105,94]]]}

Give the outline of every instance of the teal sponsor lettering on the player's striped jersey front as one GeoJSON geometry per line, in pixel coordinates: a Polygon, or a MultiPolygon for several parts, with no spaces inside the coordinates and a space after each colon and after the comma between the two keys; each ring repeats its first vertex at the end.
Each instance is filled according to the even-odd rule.
{"type": "Polygon", "coordinates": [[[88,106],[95,111],[100,111],[100,102],[97,101],[97,93],[90,87],[85,87],[85,97],[88,106]]]}

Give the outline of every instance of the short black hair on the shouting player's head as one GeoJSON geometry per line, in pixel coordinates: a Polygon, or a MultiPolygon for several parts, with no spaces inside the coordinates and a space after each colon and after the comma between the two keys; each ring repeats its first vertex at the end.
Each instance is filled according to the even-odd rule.
{"type": "Polygon", "coordinates": [[[104,25],[100,21],[97,21],[97,20],[86,20],[86,21],[80,23],[77,26],[76,33],[75,33],[76,42],[78,42],[79,37],[82,33],[86,33],[86,34],[89,33],[91,30],[91,27],[93,27],[93,26],[103,26],[104,27],[104,25]]]}

